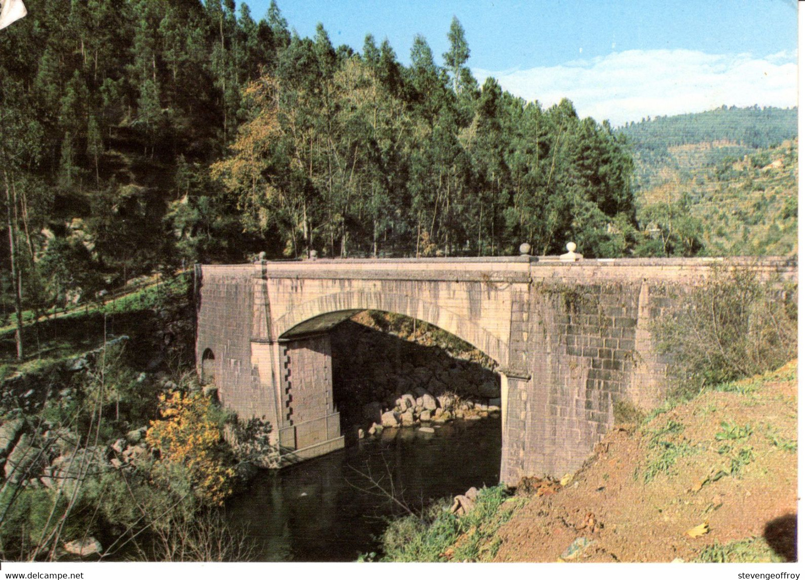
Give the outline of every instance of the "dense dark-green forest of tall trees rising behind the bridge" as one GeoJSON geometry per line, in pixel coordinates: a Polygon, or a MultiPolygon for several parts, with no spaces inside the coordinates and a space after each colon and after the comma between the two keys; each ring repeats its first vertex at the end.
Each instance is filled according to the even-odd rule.
{"type": "Polygon", "coordinates": [[[616,132],[568,100],[477,81],[457,19],[447,52],[418,35],[404,66],[372,35],[301,38],[275,2],[259,20],[234,0],[27,7],[0,32],[5,312],[15,276],[39,309],[259,251],[701,249],[641,235],[629,140],[642,124],[616,132]]]}

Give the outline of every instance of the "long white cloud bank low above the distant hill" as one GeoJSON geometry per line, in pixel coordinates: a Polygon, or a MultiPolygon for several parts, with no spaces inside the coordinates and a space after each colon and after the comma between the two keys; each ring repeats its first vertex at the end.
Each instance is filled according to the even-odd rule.
{"type": "Polygon", "coordinates": [[[580,117],[613,126],[643,117],[696,113],[717,106],[797,104],[797,55],[714,55],[691,50],[632,50],[553,67],[473,74],[551,106],[567,97],[580,117]]]}

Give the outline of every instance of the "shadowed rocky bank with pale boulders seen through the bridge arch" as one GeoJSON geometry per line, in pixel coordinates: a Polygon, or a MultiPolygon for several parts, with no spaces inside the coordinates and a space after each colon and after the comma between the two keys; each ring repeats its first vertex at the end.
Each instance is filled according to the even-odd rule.
{"type": "Polygon", "coordinates": [[[388,321],[382,313],[360,313],[332,332],[333,393],[351,432],[427,429],[500,412],[491,360],[433,326],[383,328],[388,321]]]}

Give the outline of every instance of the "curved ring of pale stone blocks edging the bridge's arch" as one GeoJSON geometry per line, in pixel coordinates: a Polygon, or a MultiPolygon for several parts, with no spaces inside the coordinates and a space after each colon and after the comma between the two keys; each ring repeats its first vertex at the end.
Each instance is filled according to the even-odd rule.
{"type": "Polygon", "coordinates": [[[498,365],[508,363],[508,344],[489,330],[451,309],[403,294],[351,291],[320,296],[295,305],[290,312],[279,317],[276,334],[283,339],[327,330],[362,310],[382,310],[425,321],[469,342],[498,365]],[[318,324],[317,320],[320,321],[318,324]]]}

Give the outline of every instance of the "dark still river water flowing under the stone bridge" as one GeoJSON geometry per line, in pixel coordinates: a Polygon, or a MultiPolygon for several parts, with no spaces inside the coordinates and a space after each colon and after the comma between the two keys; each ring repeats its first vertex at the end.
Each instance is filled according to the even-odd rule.
{"type": "Polygon", "coordinates": [[[453,421],[436,433],[386,429],[380,439],[348,443],[276,473],[263,471],[230,500],[227,518],[246,527],[258,561],[355,561],[377,551],[383,517],[402,513],[366,491],[372,484],[356,470],[386,489],[393,480],[416,510],[469,487],[497,485],[500,458],[499,418],[453,421]]]}

